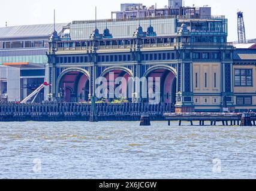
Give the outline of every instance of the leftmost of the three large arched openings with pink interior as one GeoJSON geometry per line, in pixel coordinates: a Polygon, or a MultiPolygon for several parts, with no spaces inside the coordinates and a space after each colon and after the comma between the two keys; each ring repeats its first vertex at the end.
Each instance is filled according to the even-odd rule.
{"type": "Polygon", "coordinates": [[[58,98],[65,102],[89,100],[89,78],[82,70],[68,69],[62,72],[57,82],[58,98]]]}

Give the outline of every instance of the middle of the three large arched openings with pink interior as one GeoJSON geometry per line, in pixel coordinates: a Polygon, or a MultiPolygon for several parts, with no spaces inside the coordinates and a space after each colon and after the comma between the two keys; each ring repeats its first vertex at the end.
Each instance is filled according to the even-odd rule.
{"type": "Polygon", "coordinates": [[[128,95],[128,81],[132,77],[132,72],[129,69],[109,68],[104,70],[101,76],[106,78],[103,91],[107,102],[119,98],[125,98],[128,101],[131,99],[131,96],[128,95]]]}

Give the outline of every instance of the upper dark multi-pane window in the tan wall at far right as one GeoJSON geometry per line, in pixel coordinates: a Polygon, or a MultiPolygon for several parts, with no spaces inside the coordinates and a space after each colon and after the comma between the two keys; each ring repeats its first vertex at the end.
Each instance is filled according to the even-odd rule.
{"type": "Polygon", "coordinates": [[[252,86],[252,69],[235,69],[234,85],[237,87],[252,86]]]}

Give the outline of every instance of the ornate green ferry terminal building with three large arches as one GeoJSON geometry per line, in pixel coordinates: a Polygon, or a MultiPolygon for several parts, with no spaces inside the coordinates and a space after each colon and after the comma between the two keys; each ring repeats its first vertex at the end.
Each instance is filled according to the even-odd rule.
{"type": "MultiPolygon", "coordinates": [[[[53,32],[47,52],[53,99],[88,101],[99,77],[107,79],[109,97],[116,88],[110,75],[127,81],[158,77],[159,88],[147,91],[159,92],[160,101],[173,103],[176,112],[235,109],[234,47],[227,43],[227,19],[106,20],[95,25],[73,21],[62,36],[53,32]]],[[[129,101],[149,101],[132,91],[129,101]]]]}

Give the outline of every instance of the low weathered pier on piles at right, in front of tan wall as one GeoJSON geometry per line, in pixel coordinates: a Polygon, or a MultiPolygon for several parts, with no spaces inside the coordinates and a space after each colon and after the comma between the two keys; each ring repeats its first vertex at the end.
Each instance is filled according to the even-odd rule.
{"type": "Polygon", "coordinates": [[[224,126],[252,126],[256,125],[255,113],[164,113],[168,125],[171,121],[179,121],[179,126],[182,122],[189,122],[189,125],[217,125],[221,122],[224,126]],[[196,123],[197,122],[197,123],[196,123]],[[207,124],[208,123],[208,124],[207,124]]]}

